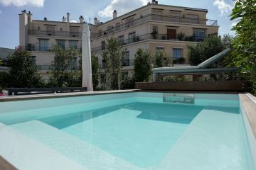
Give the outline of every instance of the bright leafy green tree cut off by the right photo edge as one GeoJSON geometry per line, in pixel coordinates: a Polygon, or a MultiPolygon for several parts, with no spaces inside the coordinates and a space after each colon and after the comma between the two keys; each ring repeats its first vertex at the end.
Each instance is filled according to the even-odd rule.
{"type": "Polygon", "coordinates": [[[231,13],[231,21],[238,20],[235,30],[233,64],[242,67],[241,72],[252,83],[256,94],[256,1],[238,0],[231,13]]]}

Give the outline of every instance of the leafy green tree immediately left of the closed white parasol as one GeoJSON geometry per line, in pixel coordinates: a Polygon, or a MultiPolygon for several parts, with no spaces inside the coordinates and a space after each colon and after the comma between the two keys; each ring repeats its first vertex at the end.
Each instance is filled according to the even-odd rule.
{"type": "Polygon", "coordinates": [[[53,52],[55,56],[50,67],[49,86],[82,86],[82,73],[76,70],[78,68],[74,63],[75,57],[80,59],[80,53],[75,49],[65,51],[59,46],[56,46],[53,52]]]}

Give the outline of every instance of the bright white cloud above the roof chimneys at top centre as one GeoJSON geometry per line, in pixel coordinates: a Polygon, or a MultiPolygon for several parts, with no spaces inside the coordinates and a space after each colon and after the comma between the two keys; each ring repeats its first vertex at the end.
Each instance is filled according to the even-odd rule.
{"type": "Polygon", "coordinates": [[[112,2],[98,12],[99,16],[112,17],[113,11],[117,10],[118,15],[122,15],[136,8],[142,7],[148,3],[147,0],[112,0],[112,2]]]}

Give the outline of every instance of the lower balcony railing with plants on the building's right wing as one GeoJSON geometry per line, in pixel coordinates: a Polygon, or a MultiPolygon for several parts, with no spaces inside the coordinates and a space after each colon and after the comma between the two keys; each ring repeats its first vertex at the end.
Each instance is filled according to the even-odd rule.
{"type": "MultiPolygon", "coordinates": [[[[184,36],[178,36],[178,35],[166,35],[166,34],[144,34],[144,35],[139,35],[135,36],[133,38],[128,38],[126,40],[119,40],[121,45],[129,45],[134,42],[139,42],[142,40],[179,40],[179,41],[191,41],[191,42],[200,42],[203,41],[205,37],[196,37],[196,36],[189,36],[189,35],[184,35],[184,36]]],[[[93,47],[92,52],[100,52],[105,50],[107,46],[100,46],[100,47],[93,47]]]]}

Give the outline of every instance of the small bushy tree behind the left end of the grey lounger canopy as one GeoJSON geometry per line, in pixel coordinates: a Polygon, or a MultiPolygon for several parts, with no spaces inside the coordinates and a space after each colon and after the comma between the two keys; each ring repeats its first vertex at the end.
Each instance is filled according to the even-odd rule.
{"type": "Polygon", "coordinates": [[[155,67],[170,67],[172,60],[170,56],[167,56],[162,50],[156,52],[156,64],[155,67]]]}

